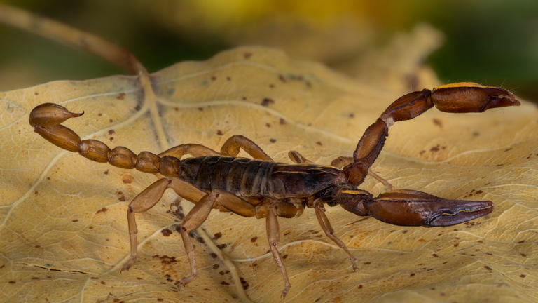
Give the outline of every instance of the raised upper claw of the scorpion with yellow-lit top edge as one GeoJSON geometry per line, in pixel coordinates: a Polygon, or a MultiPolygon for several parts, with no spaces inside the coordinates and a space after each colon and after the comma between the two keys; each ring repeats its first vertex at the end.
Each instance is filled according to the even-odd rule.
{"type": "Polygon", "coordinates": [[[520,102],[504,88],[460,82],[432,90],[432,102],[442,112],[483,112],[495,107],[518,106],[520,102]]]}

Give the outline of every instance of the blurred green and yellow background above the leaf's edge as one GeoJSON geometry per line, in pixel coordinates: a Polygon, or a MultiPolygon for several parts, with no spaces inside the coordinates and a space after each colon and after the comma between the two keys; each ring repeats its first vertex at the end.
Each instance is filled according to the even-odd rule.
{"type": "MultiPolygon", "coordinates": [[[[443,82],[502,86],[538,101],[538,1],[3,1],[118,43],[150,72],[245,44],[342,67],[420,23],[442,33],[425,58],[443,82]]],[[[0,90],[124,74],[81,50],[0,23],[0,90]]]]}

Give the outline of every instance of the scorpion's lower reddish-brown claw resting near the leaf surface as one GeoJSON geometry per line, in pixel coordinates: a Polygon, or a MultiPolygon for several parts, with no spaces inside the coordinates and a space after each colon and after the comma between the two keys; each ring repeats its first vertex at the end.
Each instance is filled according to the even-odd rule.
{"type": "Polygon", "coordinates": [[[447,200],[422,191],[398,190],[366,203],[371,216],[404,226],[448,226],[491,213],[491,201],[447,200]]]}

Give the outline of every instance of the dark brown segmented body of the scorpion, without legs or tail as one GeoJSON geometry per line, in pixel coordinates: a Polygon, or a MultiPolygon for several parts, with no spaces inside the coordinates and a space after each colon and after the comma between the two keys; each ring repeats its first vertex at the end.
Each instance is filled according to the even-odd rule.
{"type": "Polygon", "coordinates": [[[237,196],[270,198],[308,197],[346,181],[342,170],[330,166],[225,156],[181,160],[179,178],[205,191],[222,189],[237,196]]]}

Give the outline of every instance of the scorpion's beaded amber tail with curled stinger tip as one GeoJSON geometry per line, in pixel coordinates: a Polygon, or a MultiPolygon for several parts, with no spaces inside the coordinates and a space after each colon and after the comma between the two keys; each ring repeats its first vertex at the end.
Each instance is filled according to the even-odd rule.
{"type": "Polygon", "coordinates": [[[81,137],[73,130],[60,125],[69,118],[83,114],[69,112],[65,107],[54,103],[43,103],[32,109],[29,122],[31,126],[34,126],[36,133],[57,147],[70,152],[78,152],[92,161],[108,162],[120,168],[136,168],[144,173],[177,175],[177,161],[179,160],[174,157],[161,158],[151,152],[141,152],[137,155],[126,147],[110,149],[98,140],[81,140],[81,137]]]}

